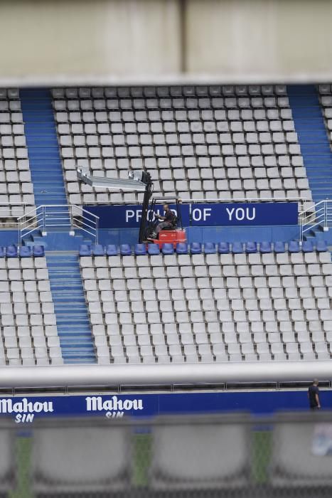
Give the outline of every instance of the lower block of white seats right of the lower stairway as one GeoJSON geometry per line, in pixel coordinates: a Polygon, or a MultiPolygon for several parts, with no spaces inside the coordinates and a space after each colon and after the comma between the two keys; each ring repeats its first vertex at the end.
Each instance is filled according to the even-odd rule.
{"type": "Polygon", "coordinates": [[[100,363],[330,359],[328,252],[84,256],[100,363]]]}

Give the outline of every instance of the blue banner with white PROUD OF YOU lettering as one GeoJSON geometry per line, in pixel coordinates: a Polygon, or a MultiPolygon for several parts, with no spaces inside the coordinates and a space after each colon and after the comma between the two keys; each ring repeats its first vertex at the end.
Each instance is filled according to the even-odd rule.
{"type": "MultiPolygon", "coordinates": [[[[85,206],[100,217],[100,228],[137,228],[141,206],[85,206]]],[[[176,206],[171,206],[176,213],[176,206]]],[[[156,213],[164,214],[162,206],[156,213]]],[[[177,214],[177,213],[176,213],[177,214]]],[[[297,225],[296,202],[182,204],[181,218],[188,226],[272,226],[297,225]]]]}

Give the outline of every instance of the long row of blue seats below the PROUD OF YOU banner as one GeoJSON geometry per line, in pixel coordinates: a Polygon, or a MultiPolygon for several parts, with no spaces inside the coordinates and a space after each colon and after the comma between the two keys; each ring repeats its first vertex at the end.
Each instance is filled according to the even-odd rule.
{"type": "MultiPolygon", "coordinates": [[[[173,244],[164,243],[162,245],[161,251],[158,244],[135,244],[134,250],[132,250],[132,246],[129,244],[121,244],[119,247],[114,244],[109,244],[106,247],[104,245],[96,244],[96,245],[80,245],[80,256],[130,256],[130,255],[158,255],[163,253],[164,255],[173,254],[242,254],[242,253],[286,253],[286,245],[289,253],[312,253],[314,251],[314,243],[311,240],[304,240],[304,242],[300,245],[297,240],[291,240],[288,244],[277,241],[274,243],[271,242],[246,242],[243,244],[242,242],[234,242],[232,244],[228,242],[220,242],[218,244],[212,242],[206,242],[205,244],[201,244],[198,242],[193,242],[191,244],[187,243],[178,243],[176,244],[176,249],[174,251],[173,244]]],[[[317,240],[316,241],[316,251],[318,253],[324,253],[328,250],[327,244],[325,240],[317,240]]]]}

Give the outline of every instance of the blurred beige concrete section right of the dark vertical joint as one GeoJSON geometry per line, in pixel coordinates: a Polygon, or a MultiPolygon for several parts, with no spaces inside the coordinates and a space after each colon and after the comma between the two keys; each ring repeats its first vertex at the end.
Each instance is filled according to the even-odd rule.
{"type": "Polygon", "coordinates": [[[329,0],[191,0],[188,73],[262,78],[332,74],[329,0]]]}

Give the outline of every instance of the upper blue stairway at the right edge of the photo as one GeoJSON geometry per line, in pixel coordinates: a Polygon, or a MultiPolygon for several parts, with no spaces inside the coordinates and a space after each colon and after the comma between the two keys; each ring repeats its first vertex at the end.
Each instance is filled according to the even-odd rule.
{"type": "Polygon", "coordinates": [[[289,85],[289,104],[315,202],[332,198],[332,152],[314,85],[289,85]]]}

